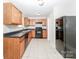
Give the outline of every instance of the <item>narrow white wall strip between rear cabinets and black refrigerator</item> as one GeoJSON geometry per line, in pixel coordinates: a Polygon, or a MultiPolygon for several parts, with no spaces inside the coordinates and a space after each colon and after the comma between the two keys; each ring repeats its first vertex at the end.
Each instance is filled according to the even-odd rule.
{"type": "Polygon", "coordinates": [[[55,20],[53,12],[48,16],[48,40],[52,47],[55,48],[55,20]]]}

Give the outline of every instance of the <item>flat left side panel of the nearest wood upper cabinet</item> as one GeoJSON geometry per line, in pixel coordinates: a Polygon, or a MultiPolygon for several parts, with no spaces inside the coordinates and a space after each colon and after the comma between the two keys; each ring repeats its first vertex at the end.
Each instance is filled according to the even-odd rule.
{"type": "Polygon", "coordinates": [[[12,18],[12,7],[10,3],[3,4],[3,22],[4,24],[11,24],[12,18]]]}

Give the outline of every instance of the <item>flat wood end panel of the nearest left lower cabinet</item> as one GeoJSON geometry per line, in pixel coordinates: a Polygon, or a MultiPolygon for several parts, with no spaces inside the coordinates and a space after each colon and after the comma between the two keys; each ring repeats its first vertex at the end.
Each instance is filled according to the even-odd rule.
{"type": "Polygon", "coordinates": [[[4,59],[20,59],[19,40],[16,38],[4,38],[4,59]]]}

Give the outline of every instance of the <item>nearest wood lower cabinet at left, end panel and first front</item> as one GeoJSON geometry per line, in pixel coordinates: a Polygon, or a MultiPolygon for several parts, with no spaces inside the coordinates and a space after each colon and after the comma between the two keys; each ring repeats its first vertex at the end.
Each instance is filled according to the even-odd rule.
{"type": "Polygon", "coordinates": [[[21,59],[25,43],[24,38],[4,38],[4,59],[21,59]]]}

